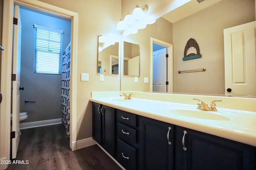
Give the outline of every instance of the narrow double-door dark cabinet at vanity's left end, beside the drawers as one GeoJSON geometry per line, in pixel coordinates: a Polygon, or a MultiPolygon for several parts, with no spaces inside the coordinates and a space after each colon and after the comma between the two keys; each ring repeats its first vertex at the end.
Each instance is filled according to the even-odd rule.
{"type": "Polygon", "coordinates": [[[115,156],[115,109],[92,103],[92,137],[115,156]]]}

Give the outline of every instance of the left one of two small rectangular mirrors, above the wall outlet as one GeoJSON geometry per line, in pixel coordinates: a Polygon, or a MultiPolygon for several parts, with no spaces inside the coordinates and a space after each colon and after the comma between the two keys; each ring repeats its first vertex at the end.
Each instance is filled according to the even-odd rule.
{"type": "Polygon", "coordinates": [[[120,40],[104,35],[98,37],[98,73],[118,74],[120,40]]]}

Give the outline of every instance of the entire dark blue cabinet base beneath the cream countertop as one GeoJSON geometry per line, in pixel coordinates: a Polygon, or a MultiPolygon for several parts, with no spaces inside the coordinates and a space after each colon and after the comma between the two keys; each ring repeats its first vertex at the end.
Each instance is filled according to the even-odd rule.
{"type": "Polygon", "coordinates": [[[256,169],[256,147],[100,104],[92,106],[92,137],[127,170],[256,169]]]}

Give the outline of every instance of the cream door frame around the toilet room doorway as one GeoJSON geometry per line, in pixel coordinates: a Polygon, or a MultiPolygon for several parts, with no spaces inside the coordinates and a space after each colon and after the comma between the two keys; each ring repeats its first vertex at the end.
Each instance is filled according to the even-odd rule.
{"type": "MultiPolygon", "coordinates": [[[[2,30],[2,64],[1,64],[1,92],[0,107],[0,160],[10,160],[10,108],[11,108],[11,74],[12,74],[12,29],[14,3],[34,8],[64,18],[71,19],[71,75],[70,75],[70,148],[76,150],[76,64],[77,64],[77,32],[78,13],[38,0],[4,0],[3,30],[2,30]],[[4,114],[5,113],[5,114],[4,114]]],[[[7,168],[0,165],[0,169],[7,168]]]]}

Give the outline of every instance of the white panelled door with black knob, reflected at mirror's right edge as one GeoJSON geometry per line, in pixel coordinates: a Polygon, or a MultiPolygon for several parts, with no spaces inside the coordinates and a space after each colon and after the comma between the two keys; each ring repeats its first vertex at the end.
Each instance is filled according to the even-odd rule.
{"type": "Polygon", "coordinates": [[[256,21],[224,29],[225,94],[256,96],[255,31],[256,21]]]}

